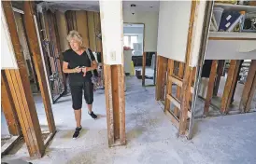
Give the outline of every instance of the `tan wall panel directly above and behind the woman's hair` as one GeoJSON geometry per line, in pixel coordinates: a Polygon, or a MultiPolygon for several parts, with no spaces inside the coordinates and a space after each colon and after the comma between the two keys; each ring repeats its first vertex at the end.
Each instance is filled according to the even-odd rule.
{"type": "Polygon", "coordinates": [[[76,11],[78,33],[82,35],[83,46],[89,48],[89,29],[86,11],[76,11]]]}

